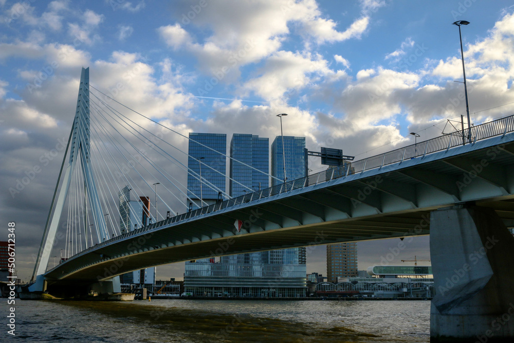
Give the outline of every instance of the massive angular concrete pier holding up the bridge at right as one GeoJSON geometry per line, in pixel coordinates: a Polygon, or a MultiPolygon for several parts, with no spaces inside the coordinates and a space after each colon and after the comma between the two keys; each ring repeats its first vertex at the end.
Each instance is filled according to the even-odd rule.
{"type": "Polygon", "coordinates": [[[514,238],[488,208],[433,211],[431,341],[512,341],[514,238]]]}

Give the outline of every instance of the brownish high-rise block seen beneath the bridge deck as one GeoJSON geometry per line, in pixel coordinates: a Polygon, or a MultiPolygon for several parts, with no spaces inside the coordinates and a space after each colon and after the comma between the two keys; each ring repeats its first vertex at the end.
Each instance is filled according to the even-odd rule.
{"type": "Polygon", "coordinates": [[[357,276],[357,243],[336,243],[326,246],[326,274],[329,282],[337,278],[357,276]]]}

